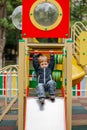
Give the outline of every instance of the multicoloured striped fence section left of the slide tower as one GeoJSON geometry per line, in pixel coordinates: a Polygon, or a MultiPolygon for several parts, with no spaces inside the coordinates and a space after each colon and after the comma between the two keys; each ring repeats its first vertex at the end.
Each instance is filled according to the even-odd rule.
{"type": "Polygon", "coordinates": [[[18,94],[18,66],[11,65],[0,70],[0,97],[18,94]]]}

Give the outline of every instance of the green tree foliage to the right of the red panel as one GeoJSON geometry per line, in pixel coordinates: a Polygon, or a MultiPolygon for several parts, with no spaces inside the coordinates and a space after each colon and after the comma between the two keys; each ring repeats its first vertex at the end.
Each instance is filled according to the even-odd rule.
{"type": "Polygon", "coordinates": [[[71,25],[81,21],[87,25],[87,0],[71,0],[71,25]]]}

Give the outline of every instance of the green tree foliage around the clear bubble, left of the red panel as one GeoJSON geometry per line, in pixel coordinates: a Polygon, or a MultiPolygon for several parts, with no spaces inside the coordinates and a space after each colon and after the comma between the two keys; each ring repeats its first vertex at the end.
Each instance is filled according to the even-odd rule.
{"type": "Polygon", "coordinates": [[[21,0],[7,0],[7,14],[6,18],[2,20],[3,26],[6,28],[6,47],[17,49],[18,40],[21,38],[21,31],[18,30],[12,23],[11,15],[14,9],[21,5],[21,0]]]}

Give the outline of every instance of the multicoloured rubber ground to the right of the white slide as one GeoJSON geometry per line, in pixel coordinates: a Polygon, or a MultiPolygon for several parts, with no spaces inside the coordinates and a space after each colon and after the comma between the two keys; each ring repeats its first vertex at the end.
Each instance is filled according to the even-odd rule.
{"type": "Polygon", "coordinates": [[[73,99],[72,104],[72,124],[74,126],[87,126],[87,98],[73,99]]]}

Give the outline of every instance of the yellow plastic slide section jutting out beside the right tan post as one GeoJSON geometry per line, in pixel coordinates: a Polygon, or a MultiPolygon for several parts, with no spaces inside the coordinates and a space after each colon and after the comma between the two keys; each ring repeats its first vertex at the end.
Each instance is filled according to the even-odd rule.
{"type": "Polygon", "coordinates": [[[77,60],[72,56],[72,84],[79,83],[85,75],[83,68],[77,64],[77,60]]]}

